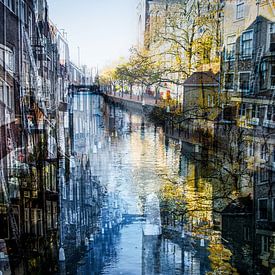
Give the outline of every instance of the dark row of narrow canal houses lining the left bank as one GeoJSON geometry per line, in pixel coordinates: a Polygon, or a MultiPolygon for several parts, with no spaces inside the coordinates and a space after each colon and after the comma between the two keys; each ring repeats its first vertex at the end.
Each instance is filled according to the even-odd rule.
{"type": "Polygon", "coordinates": [[[79,178],[89,184],[89,194],[100,190],[84,167],[87,160],[75,157],[69,128],[72,84],[90,82],[70,61],[66,36],[49,20],[46,0],[0,1],[0,270],[4,274],[9,268],[18,274],[55,272],[60,247],[73,250],[92,233],[85,230],[94,228],[95,221],[85,217],[92,216],[87,211],[96,211],[95,202],[79,199],[83,193],[79,178]]]}

